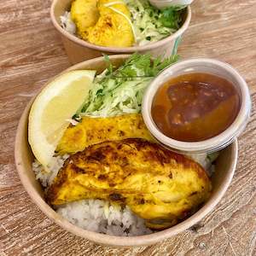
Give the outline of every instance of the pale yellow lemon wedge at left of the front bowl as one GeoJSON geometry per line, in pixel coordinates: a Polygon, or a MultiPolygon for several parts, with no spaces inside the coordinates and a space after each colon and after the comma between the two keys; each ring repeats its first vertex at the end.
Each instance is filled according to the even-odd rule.
{"type": "Polygon", "coordinates": [[[96,71],[64,73],[36,97],[29,113],[28,142],[36,159],[47,168],[57,143],[69,125],[67,119],[82,107],[96,71]]]}

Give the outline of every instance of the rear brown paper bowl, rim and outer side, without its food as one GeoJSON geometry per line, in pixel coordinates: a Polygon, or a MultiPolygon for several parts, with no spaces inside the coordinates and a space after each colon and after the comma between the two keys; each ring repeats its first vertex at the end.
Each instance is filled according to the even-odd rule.
{"type": "Polygon", "coordinates": [[[181,26],[177,32],[173,33],[167,38],[144,46],[125,48],[104,47],[90,44],[65,31],[61,27],[60,16],[63,15],[67,9],[69,9],[71,2],[72,0],[54,0],[50,9],[50,17],[57,31],[61,33],[61,39],[66,49],[68,59],[73,64],[102,56],[102,53],[107,55],[117,55],[132,54],[134,52],[139,52],[142,54],[150,52],[153,56],[172,55],[175,41],[177,38],[182,36],[183,32],[185,32],[185,30],[188,28],[191,20],[191,9],[188,7],[185,15],[183,16],[183,26],[181,26]]]}

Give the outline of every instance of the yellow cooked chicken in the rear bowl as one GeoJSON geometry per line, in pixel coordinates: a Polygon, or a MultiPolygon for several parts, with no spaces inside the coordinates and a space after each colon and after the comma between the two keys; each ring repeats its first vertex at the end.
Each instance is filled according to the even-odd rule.
{"type": "Polygon", "coordinates": [[[122,0],[75,0],[72,20],[81,38],[109,47],[129,47],[134,43],[131,13],[122,0]]]}

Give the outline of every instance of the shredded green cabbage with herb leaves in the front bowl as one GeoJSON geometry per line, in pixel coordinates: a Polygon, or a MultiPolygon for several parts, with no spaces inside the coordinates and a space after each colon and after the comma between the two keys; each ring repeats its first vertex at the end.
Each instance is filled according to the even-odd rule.
{"type": "Polygon", "coordinates": [[[114,70],[107,55],[108,68],[94,80],[93,89],[84,107],[75,117],[115,116],[123,113],[140,113],[143,93],[148,84],[161,70],[177,61],[177,55],[161,60],[152,56],[133,54],[124,65],[114,70]]]}

